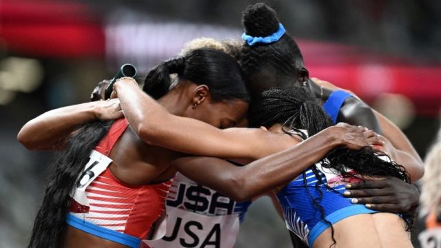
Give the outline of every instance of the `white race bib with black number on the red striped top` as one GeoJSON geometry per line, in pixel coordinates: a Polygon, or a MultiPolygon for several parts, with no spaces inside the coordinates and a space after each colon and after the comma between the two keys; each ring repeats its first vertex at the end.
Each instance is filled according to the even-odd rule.
{"type": "Polygon", "coordinates": [[[84,206],[89,205],[85,189],[112,163],[112,159],[95,150],[92,150],[89,158],[89,162],[85,165],[83,172],[81,172],[77,180],[73,195],[71,195],[77,203],[84,206]]]}

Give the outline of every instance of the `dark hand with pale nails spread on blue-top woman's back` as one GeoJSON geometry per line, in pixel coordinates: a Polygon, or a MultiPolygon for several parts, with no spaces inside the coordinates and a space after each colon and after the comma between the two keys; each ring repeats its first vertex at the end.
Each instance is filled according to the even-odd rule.
{"type": "Polygon", "coordinates": [[[373,179],[348,183],[343,195],[353,198],[352,203],[365,204],[367,208],[378,211],[400,213],[418,207],[420,194],[414,185],[395,177],[373,179]]]}

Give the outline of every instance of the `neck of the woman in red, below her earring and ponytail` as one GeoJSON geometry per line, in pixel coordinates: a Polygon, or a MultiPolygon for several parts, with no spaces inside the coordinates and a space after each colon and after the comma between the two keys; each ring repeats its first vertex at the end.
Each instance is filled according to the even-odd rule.
{"type": "Polygon", "coordinates": [[[170,89],[165,96],[158,100],[158,103],[163,105],[165,109],[176,116],[183,116],[188,102],[188,97],[185,97],[187,87],[183,84],[178,84],[172,89],[170,89]]]}

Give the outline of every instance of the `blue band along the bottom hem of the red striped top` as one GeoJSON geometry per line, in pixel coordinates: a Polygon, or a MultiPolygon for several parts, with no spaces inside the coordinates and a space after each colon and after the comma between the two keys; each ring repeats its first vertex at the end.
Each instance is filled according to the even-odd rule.
{"type": "Polygon", "coordinates": [[[136,238],[134,236],[123,234],[119,231],[114,231],[105,227],[100,227],[99,225],[94,225],[88,221],[81,220],[81,218],[78,218],[72,214],[68,214],[66,217],[66,223],[76,229],[80,229],[88,234],[92,234],[93,236],[117,242],[121,245],[127,245],[128,247],[138,248],[141,244],[141,238],[136,238]]]}

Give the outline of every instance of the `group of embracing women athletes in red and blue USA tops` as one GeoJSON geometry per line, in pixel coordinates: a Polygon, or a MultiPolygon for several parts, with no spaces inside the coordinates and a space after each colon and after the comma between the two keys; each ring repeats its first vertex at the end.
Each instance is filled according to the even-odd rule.
{"type": "Polygon", "coordinates": [[[406,136],[310,79],[269,6],[243,24],[243,43],[197,39],[142,88],[121,78],[23,126],[25,147],[59,150],[29,247],[233,247],[263,194],[294,247],[412,247],[424,167],[406,136]]]}

